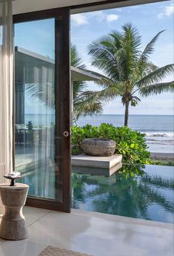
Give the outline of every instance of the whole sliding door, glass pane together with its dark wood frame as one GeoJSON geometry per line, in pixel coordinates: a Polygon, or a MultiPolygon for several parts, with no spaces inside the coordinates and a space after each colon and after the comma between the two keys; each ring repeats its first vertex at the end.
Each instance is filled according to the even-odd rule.
{"type": "Polygon", "coordinates": [[[28,205],[70,211],[69,11],[17,21],[15,168],[28,205]]]}

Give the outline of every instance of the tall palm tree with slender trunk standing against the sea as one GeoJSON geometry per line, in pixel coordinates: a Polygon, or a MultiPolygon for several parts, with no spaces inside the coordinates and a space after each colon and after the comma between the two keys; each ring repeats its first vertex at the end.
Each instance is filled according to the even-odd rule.
{"type": "Polygon", "coordinates": [[[141,36],[133,24],[124,24],[123,32],[113,31],[89,46],[92,65],[103,70],[106,76],[98,82],[103,90],[96,92],[96,98],[104,100],[121,96],[125,106],[124,125],[128,124],[129,106],[136,106],[141,100],[136,96],[149,96],[174,91],[173,82],[163,82],[173,73],[174,65],[158,68],[150,62],[155,42],[160,31],[141,51],[141,36]]]}

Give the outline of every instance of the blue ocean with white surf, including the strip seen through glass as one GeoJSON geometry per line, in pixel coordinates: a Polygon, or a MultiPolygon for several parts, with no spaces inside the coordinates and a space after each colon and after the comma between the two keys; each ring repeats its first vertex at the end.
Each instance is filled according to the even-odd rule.
{"type": "MultiPolygon", "coordinates": [[[[29,120],[34,125],[45,125],[44,115],[35,116],[27,114],[25,123],[29,120]]],[[[53,122],[53,115],[50,115],[50,122],[53,122]]],[[[100,116],[87,116],[79,118],[77,125],[83,126],[100,125],[102,122],[111,123],[115,126],[124,125],[124,115],[103,114],[100,116]]],[[[174,116],[171,115],[130,115],[129,127],[146,134],[147,145],[150,152],[174,153],[174,116]]]]}

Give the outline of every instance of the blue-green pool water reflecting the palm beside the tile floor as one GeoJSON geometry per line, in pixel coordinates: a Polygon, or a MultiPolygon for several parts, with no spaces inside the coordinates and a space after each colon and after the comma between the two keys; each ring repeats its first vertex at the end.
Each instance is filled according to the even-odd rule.
{"type": "Polygon", "coordinates": [[[159,165],[124,165],[111,177],[73,172],[72,208],[173,223],[173,172],[159,165]]]}

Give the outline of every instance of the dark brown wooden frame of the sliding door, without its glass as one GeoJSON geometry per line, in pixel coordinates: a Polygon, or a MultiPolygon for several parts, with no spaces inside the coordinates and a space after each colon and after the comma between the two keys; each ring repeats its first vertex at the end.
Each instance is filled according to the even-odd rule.
{"type": "MultiPolygon", "coordinates": [[[[22,13],[13,16],[13,24],[21,22],[32,22],[41,19],[55,19],[55,95],[56,95],[56,120],[61,118],[61,128],[56,122],[55,145],[56,145],[56,168],[62,170],[62,202],[56,200],[45,200],[36,197],[27,197],[27,206],[33,206],[43,209],[70,212],[70,135],[63,136],[64,131],[70,134],[70,8],[58,8],[53,10],[43,10],[33,13],[22,13]],[[60,50],[61,46],[61,50],[60,50]],[[58,101],[63,102],[61,113],[58,108],[58,101]],[[61,136],[61,165],[58,163],[58,137],[61,136]]],[[[15,99],[15,95],[14,95],[15,99]]],[[[15,110],[15,108],[14,108],[15,110]]],[[[15,116],[15,115],[14,115],[15,116]]],[[[13,124],[14,125],[14,124],[13,124]]],[[[14,130],[14,129],[13,129],[14,130]]],[[[15,133],[14,133],[15,135],[15,133]]],[[[13,159],[15,157],[15,141],[13,142],[13,159]]],[[[58,171],[56,171],[56,187],[58,186],[58,171]]]]}

